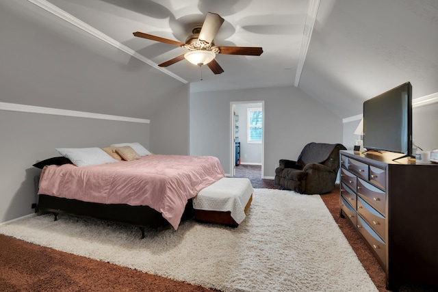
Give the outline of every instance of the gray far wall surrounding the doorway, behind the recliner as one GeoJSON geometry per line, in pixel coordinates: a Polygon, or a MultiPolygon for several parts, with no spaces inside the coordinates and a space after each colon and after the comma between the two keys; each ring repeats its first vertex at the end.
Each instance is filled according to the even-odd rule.
{"type": "Polygon", "coordinates": [[[296,159],[309,142],[342,142],[342,120],[295,87],[192,92],[190,154],[214,155],[231,173],[231,102],[265,101],[263,175],[274,176],[279,159],[296,159]]]}

